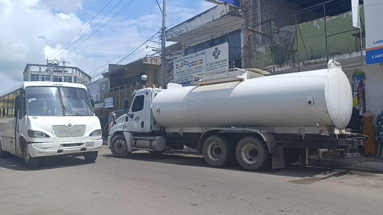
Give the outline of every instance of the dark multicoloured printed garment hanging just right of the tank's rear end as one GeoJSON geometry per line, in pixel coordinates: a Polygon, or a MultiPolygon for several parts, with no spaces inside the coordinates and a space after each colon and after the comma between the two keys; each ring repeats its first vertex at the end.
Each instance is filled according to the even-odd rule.
{"type": "Polygon", "coordinates": [[[363,115],[366,112],[365,102],[365,73],[355,72],[353,75],[353,105],[354,108],[359,109],[359,115],[363,115]]]}

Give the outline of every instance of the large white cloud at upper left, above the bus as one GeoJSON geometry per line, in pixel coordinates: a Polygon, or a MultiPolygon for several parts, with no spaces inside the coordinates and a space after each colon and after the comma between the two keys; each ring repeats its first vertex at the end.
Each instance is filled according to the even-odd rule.
{"type": "Polygon", "coordinates": [[[2,0],[0,23],[0,85],[7,88],[5,79],[22,81],[25,64],[45,58],[46,45],[67,40],[83,25],[74,13],[53,13],[38,0],[2,0]]]}

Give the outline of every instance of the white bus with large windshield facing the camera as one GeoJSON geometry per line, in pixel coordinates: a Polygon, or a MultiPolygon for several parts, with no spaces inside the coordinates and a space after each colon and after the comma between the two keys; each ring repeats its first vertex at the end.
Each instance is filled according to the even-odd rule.
{"type": "Polygon", "coordinates": [[[101,125],[81,84],[23,82],[0,95],[0,157],[11,153],[35,168],[39,157],[95,161],[101,125]]]}

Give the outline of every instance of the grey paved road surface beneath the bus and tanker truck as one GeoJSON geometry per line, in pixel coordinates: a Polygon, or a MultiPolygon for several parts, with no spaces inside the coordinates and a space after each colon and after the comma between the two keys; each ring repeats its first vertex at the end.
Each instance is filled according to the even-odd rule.
{"type": "Polygon", "coordinates": [[[193,155],[104,146],[95,163],[44,159],[25,169],[0,159],[0,215],[382,215],[383,175],[293,166],[245,172],[193,155]]]}

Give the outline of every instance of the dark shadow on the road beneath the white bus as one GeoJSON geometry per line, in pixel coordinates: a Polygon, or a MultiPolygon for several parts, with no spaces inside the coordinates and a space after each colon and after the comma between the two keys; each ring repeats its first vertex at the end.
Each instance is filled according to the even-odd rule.
{"type": "Polygon", "coordinates": [[[44,169],[53,169],[53,168],[62,168],[68,166],[78,166],[89,164],[84,159],[79,157],[70,157],[70,156],[57,156],[51,158],[40,158],[38,161],[38,167],[35,169],[27,169],[21,158],[18,158],[14,155],[7,155],[6,158],[0,158],[0,169],[6,168],[16,171],[37,171],[44,169]]]}

